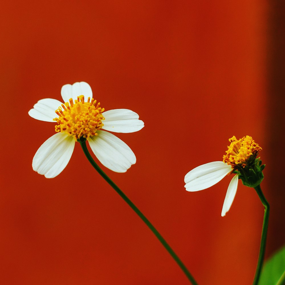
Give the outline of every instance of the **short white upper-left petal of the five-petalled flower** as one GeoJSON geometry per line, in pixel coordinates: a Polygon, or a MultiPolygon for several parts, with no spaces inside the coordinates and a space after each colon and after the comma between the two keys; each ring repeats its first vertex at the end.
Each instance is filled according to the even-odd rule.
{"type": "Polygon", "coordinates": [[[42,99],[34,105],[34,109],[30,109],[28,114],[37,120],[46,122],[55,122],[53,118],[58,117],[55,111],[62,103],[56,99],[42,99]]]}

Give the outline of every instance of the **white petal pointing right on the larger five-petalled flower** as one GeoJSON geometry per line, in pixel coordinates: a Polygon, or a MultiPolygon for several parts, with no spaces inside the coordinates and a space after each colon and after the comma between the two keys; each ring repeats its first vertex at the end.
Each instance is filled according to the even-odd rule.
{"type": "Polygon", "coordinates": [[[128,109],[115,109],[103,112],[103,129],[115,133],[133,133],[144,127],[139,115],[128,109]]]}

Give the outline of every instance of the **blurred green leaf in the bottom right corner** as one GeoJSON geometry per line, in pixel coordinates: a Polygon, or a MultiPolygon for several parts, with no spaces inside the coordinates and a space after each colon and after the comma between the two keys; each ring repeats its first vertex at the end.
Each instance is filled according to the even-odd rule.
{"type": "Polygon", "coordinates": [[[262,268],[258,285],[285,284],[285,247],[282,247],[262,268]]]}

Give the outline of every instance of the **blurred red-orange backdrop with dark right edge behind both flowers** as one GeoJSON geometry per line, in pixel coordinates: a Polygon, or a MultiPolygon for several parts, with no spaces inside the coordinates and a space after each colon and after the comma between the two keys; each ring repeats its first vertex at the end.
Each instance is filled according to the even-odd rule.
{"type": "Polygon", "coordinates": [[[271,205],[266,258],[284,244],[284,1],[1,6],[1,284],[189,284],[79,144],[56,178],[32,170],[54,124],[29,109],[61,100],[62,85],[77,81],[106,110],[131,109],[144,121],[118,134],[137,163],[124,174],[103,170],[198,283],[252,284],[264,213],[257,194],[239,181],[221,217],[231,178],[191,193],[184,175],[222,160],[233,135],[252,136],[271,205]]]}

